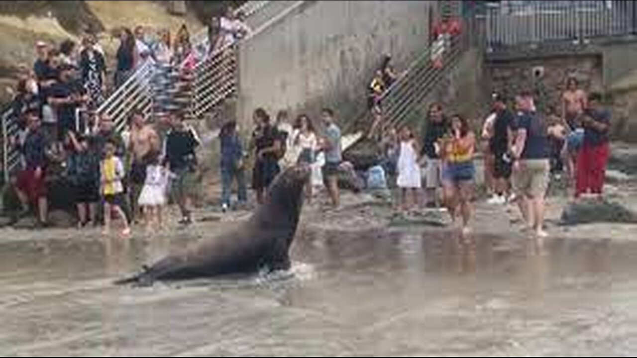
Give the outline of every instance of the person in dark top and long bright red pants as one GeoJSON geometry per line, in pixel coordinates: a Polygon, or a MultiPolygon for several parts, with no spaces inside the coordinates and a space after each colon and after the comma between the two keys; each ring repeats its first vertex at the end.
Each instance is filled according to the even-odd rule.
{"type": "Polygon", "coordinates": [[[584,144],[577,159],[576,197],[589,192],[601,197],[604,189],[611,116],[610,111],[601,107],[601,99],[601,94],[590,94],[589,106],[583,115],[584,144]]]}

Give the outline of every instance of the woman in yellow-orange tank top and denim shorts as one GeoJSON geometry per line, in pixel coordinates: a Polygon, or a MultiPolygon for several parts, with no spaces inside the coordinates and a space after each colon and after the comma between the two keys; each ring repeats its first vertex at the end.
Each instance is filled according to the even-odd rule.
{"type": "Polygon", "coordinates": [[[440,143],[443,159],[443,190],[445,203],[452,219],[462,217],[462,233],[469,233],[469,223],[473,215],[471,199],[475,179],[476,138],[469,129],[469,123],[461,115],[452,117],[450,133],[440,143]]]}

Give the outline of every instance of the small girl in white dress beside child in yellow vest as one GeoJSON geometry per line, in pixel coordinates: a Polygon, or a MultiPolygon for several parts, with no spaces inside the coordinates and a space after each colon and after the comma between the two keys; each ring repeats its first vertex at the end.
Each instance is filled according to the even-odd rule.
{"type": "Polygon", "coordinates": [[[163,212],[166,206],[168,182],[168,169],[161,166],[159,155],[154,155],[146,168],[146,181],[138,201],[143,208],[148,231],[152,229],[154,222],[159,228],[164,227],[163,212]]]}

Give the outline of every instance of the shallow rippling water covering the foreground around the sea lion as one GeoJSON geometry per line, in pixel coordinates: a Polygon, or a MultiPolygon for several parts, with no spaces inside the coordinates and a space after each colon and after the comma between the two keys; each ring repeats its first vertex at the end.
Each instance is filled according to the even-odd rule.
{"type": "Polygon", "coordinates": [[[151,289],[111,285],[192,239],[1,243],[0,353],[637,353],[637,243],[303,229],[290,273],[151,289]]]}

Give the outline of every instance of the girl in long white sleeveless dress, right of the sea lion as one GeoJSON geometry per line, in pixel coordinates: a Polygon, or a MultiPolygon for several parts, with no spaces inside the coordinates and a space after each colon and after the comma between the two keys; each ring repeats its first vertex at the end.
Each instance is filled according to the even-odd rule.
{"type": "Polygon", "coordinates": [[[418,204],[419,190],[422,187],[420,176],[419,148],[413,133],[408,127],[401,131],[400,156],[398,157],[397,185],[401,189],[401,205],[410,210],[418,204]]]}

